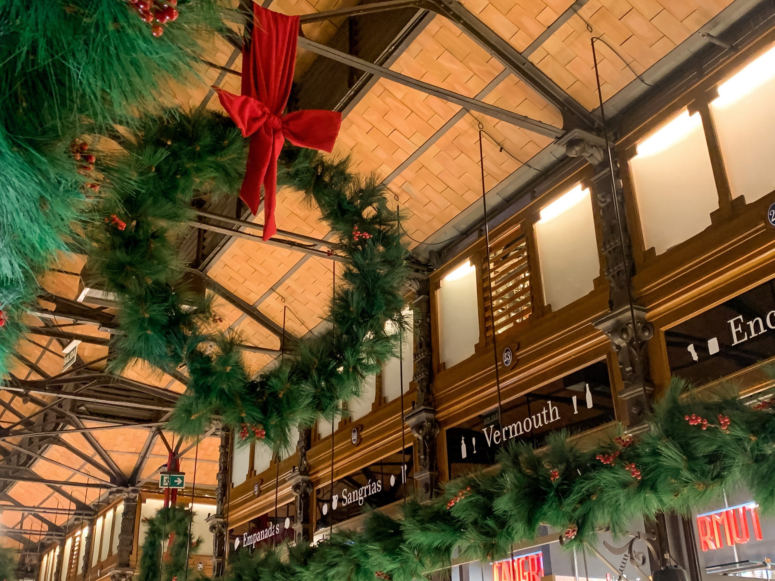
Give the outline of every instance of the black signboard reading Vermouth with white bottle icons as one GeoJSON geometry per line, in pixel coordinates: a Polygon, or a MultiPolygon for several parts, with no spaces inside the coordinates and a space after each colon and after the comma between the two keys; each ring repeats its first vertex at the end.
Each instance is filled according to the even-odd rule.
{"type": "Polygon", "coordinates": [[[504,444],[514,441],[543,444],[560,428],[582,431],[615,420],[611,378],[605,361],[593,363],[503,405],[446,430],[449,477],[495,463],[504,444]]]}

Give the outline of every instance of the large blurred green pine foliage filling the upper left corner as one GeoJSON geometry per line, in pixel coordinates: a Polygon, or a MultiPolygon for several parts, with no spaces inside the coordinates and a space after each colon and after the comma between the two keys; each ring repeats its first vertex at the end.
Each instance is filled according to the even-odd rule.
{"type": "Polygon", "coordinates": [[[93,180],[71,143],[93,144],[157,110],[171,79],[194,77],[198,41],[222,29],[217,0],[180,0],[177,10],[154,37],[124,0],[0,3],[0,373],[36,278],[57,253],[81,249],[93,180]]]}

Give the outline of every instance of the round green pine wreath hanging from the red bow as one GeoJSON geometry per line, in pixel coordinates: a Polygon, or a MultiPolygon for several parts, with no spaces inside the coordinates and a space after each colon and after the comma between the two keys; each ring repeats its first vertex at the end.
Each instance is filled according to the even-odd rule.
{"type": "Polygon", "coordinates": [[[239,338],[206,331],[212,312],[186,290],[173,236],[194,218],[194,198],[239,191],[246,141],[212,112],[167,111],[134,125],[124,153],[99,156],[108,195],[88,232],[89,268],[119,297],[112,370],[136,359],[167,372],[185,366],[188,389],[170,422],[182,435],[202,434],[219,414],[244,440],[275,449],[295,444],[295,426],[332,418],[393,355],[397,335],[386,324],[403,324],[400,290],[408,273],[398,215],[387,208],[384,188],[350,173],[346,160],[284,150],[278,184],[319,206],[350,261],[337,273],[332,328],[294,342],[277,366],[253,379],[239,338]]]}

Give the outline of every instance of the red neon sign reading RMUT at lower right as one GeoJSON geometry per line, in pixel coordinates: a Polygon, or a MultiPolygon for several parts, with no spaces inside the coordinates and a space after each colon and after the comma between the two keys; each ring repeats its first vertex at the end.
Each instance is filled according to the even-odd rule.
{"type": "Polygon", "coordinates": [[[761,541],[763,537],[762,525],[759,521],[759,505],[754,502],[698,514],[697,531],[700,537],[700,548],[703,551],[714,551],[717,548],[723,548],[724,541],[728,547],[747,543],[751,538],[748,528],[749,514],[753,525],[753,536],[757,541],[761,541]]]}

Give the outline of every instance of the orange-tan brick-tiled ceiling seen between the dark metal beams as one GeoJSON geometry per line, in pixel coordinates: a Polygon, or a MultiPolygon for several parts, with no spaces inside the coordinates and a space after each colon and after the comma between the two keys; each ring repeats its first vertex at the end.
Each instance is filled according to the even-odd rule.
{"type": "MultiPolygon", "coordinates": [[[[611,98],[622,88],[637,82],[643,74],[725,9],[731,0],[463,0],[463,5],[506,40],[523,56],[536,64],[563,91],[589,111],[598,106],[591,53],[591,37],[601,36],[598,43],[602,93],[611,98]],[[557,22],[563,22],[556,26],[557,22]],[[555,29],[556,28],[556,29],[555,29]],[[546,31],[549,30],[550,33],[546,31]],[[551,32],[553,31],[553,32],[551,32]]],[[[356,4],[347,0],[275,0],[270,8],[287,14],[309,14],[356,4]]],[[[389,19],[391,13],[384,15],[389,19]]],[[[343,19],[318,22],[303,27],[308,39],[326,43],[336,34],[343,19]]],[[[415,79],[436,84],[461,95],[480,98],[498,107],[527,115],[532,119],[562,127],[560,112],[549,105],[538,92],[506,70],[495,57],[452,22],[441,15],[428,15],[408,46],[394,58],[391,70],[415,79]]],[[[166,101],[187,108],[206,106],[219,109],[211,84],[218,84],[239,93],[239,76],[224,68],[239,72],[239,52],[220,38],[208,40],[212,50],[208,60],[222,68],[202,66],[198,79],[186,86],[169,88],[166,101]]],[[[297,80],[320,64],[323,57],[300,50],[297,60],[297,80]]],[[[354,170],[374,174],[388,188],[392,207],[400,206],[410,217],[404,224],[411,237],[410,246],[417,247],[439,232],[456,217],[480,203],[478,129],[484,129],[484,172],[487,191],[506,180],[523,165],[552,143],[552,139],[521,129],[487,115],[461,110],[435,96],[385,79],[367,84],[343,120],[336,156],[350,156],[354,170]]],[[[325,87],[321,88],[325,91],[325,87]]],[[[263,215],[253,218],[263,222],[263,215]]],[[[305,204],[298,192],[285,188],[278,192],[277,226],[281,229],[325,238],[328,227],[321,222],[317,208],[305,204]]],[[[83,266],[82,256],[62,256],[43,286],[55,294],[74,299],[78,289],[77,274],[83,266]]],[[[264,246],[257,242],[232,238],[222,246],[214,260],[205,268],[209,277],[237,297],[285,326],[294,335],[314,332],[327,314],[334,273],[332,261],[298,253],[291,249],[264,246]]],[[[274,333],[220,297],[215,305],[222,317],[217,324],[222,330],[236,330],[245,342],[254,346],[279,348],[274,333]]],[[[30,318],[31,325],[41,325],[30,318]]],[[[72,332],[107,338],[95,326],[78,325],[72,332]]],[[[19,355],[12,373],[27,379],[43,379],[43,373],[56,375],[62,370],[63,342],[38,335],[29,335],[19,345],[19,355]],[[26,359],[27,363],[22,363],[26,359]],[[43,373],[40,373],[43,372],[43,373]]],[[[84,363],[107,355],[107,348],[82,343],[79,356],[84,363]]],[[[246,353],[251,368],[258,372],[269,364],[271,356],[246,353]]],[[[93,368],[101,369],[104,363],[93,368]]],[[[148,383],[180,393],[179,381],[147,366],[137,365],[126,370],[129,379],[148,383]]],[[[129,392],[128,392],[129,394],[129,392]]],[[[22,400],[19,394],[0,393],[5,403],[0,411],[0,425],[7,426],[20,416],[52,403],[52,396],[36,395],[22,400]]],[[[96,425],[89,421],[88,425],[96,425]]],[[[115,428],[92,432],[95,441],[84,435],[64,435],[71,447],[85,456],[102,462],[97,447],[108,455],[129,476],[138,468],[143,450],[150,440],[150,456],[140,466],[140,476],[152,473],[167,460],[167,449],[151,428],[115,428]]],[[[166,434],[171,442],[172,435],[166,434]]],[[[18,444],[18,439],[8,440],[18,444]]],[[[0,442],[2,447],[2,442],[0,442]]],[[[105,479],[109,475],[81,456],[57,445],[49,446],[32,469],[40,476],[72,482],[88,480],[89,476],[105,479]],[[65,468],[64,466],[71,468],[65,468]],[[85,473],[85,474],[84,474],[85,473]]],[[[194,451],[184,455],[181,469],[193,472],[194,451]]],[[[218,440],[207,438],[198,450],[197,484],[215,485],[218,440]]],[[[65,495],[81,499],[86,504],[97,500],[97,491],[76,486],[64,486],[57,493],[49,486],[17,483],[7,490],[2,503],[48,507],[71,506],[65,495]]],[[[66,517],[48,515],[54,524],[66,517]]],[[[6,527],[38,529],[41,521],[5,511],[0,515],[6,527]]],[[[43,529],[46,527],[44,526],[43,529]]],[[[37,542],[36,535],[26,535],[37,542]]],[[[19,535],[5,537],[12,546],[19,545],[19,535]]]]}

